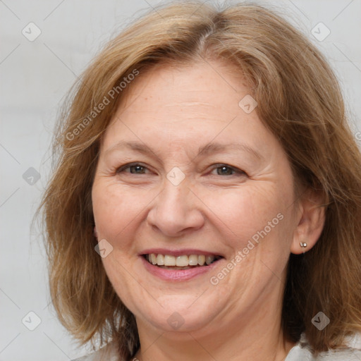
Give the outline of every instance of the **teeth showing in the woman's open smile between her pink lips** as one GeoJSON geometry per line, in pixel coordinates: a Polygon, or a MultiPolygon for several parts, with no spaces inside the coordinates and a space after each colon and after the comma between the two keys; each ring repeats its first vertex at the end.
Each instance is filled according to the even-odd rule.
{"type": "Polygon", "coordinates": [[[219,255],[161,255],[150,253],[143,255],[147,262],[153,266],[164,269],[192,269],[197,267],[207,267],[219,259],[223,258],[219,255]]]}

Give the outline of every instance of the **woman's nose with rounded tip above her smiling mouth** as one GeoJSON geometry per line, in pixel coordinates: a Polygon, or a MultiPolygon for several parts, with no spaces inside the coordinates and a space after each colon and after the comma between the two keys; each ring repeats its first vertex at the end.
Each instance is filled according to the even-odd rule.
{"type": "Polygon", "coordinates": [[[200,199],[183,180],[173,185],[167,179],[164,188],[152,203],[147,221],[154,231],[168,237],[181,236],[195,231],[204,224],[204,214],[200,199]]]}

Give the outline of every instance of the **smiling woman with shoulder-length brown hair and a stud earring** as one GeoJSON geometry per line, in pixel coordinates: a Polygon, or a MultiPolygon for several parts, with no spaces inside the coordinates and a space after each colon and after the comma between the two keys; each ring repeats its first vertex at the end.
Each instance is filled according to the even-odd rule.
{"type": "Polygon", "coordinates": [[[80,360],[361,359],[361,155],[285,20],[158,8],[87,68],[58,135],[51,296],[105,345],[80,360]]]}

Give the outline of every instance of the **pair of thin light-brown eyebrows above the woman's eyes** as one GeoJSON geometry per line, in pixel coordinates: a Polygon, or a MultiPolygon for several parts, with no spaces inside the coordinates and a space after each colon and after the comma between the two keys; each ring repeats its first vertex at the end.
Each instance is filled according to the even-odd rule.
{"type": "MultiPolygon", "coordinates": [[[[121,150],[121,149],[131,149],[134,150],[136,152],[140,152],[143,154],[154,154],[155,157],[159,158],[158,154],[156,152],[154,152],[152,149],[150,149],[149,147],[147,147],[147,145],[145,145],[142,142],[137,142],[137,141],[125,141],[125,140],[121,140],[120,142],[117,142],[115,145],[109,147],[108,149],[106,149],[105,154],[113,151],[114,149],[117,150],[121,150]]],[[[252,147],[250,147],[249,145],[243,144],[243,143],[217,143],[217,142],[211,142],[207,145],[203,145],[202,147],[200,147],[198,149],[198,156],[204,156],[207,154],[214,154],[214,153],[219,153],[219,152],[224,152],[225,150],[228,149],[235,149],[235,150],[240,150],[243,152],[247,152],[250,153],[253,157],[259,159],[259,160],[264,160],[264,157],[259,154],[259,152],[257,152],[257,150],[253,149],[252,147]]]]}

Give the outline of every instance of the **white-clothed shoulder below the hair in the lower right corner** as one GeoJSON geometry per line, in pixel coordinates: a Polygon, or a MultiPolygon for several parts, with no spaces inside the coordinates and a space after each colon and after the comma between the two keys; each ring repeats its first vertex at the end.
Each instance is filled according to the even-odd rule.
{"type": "Polygon", "coordinates": [[[348,347],[328,350],[312,355],[305,335],[302,334],[300,342],[291,348],[285,361],[357,361],[361,360],[361,334],[348,338],[348,347]]]}

